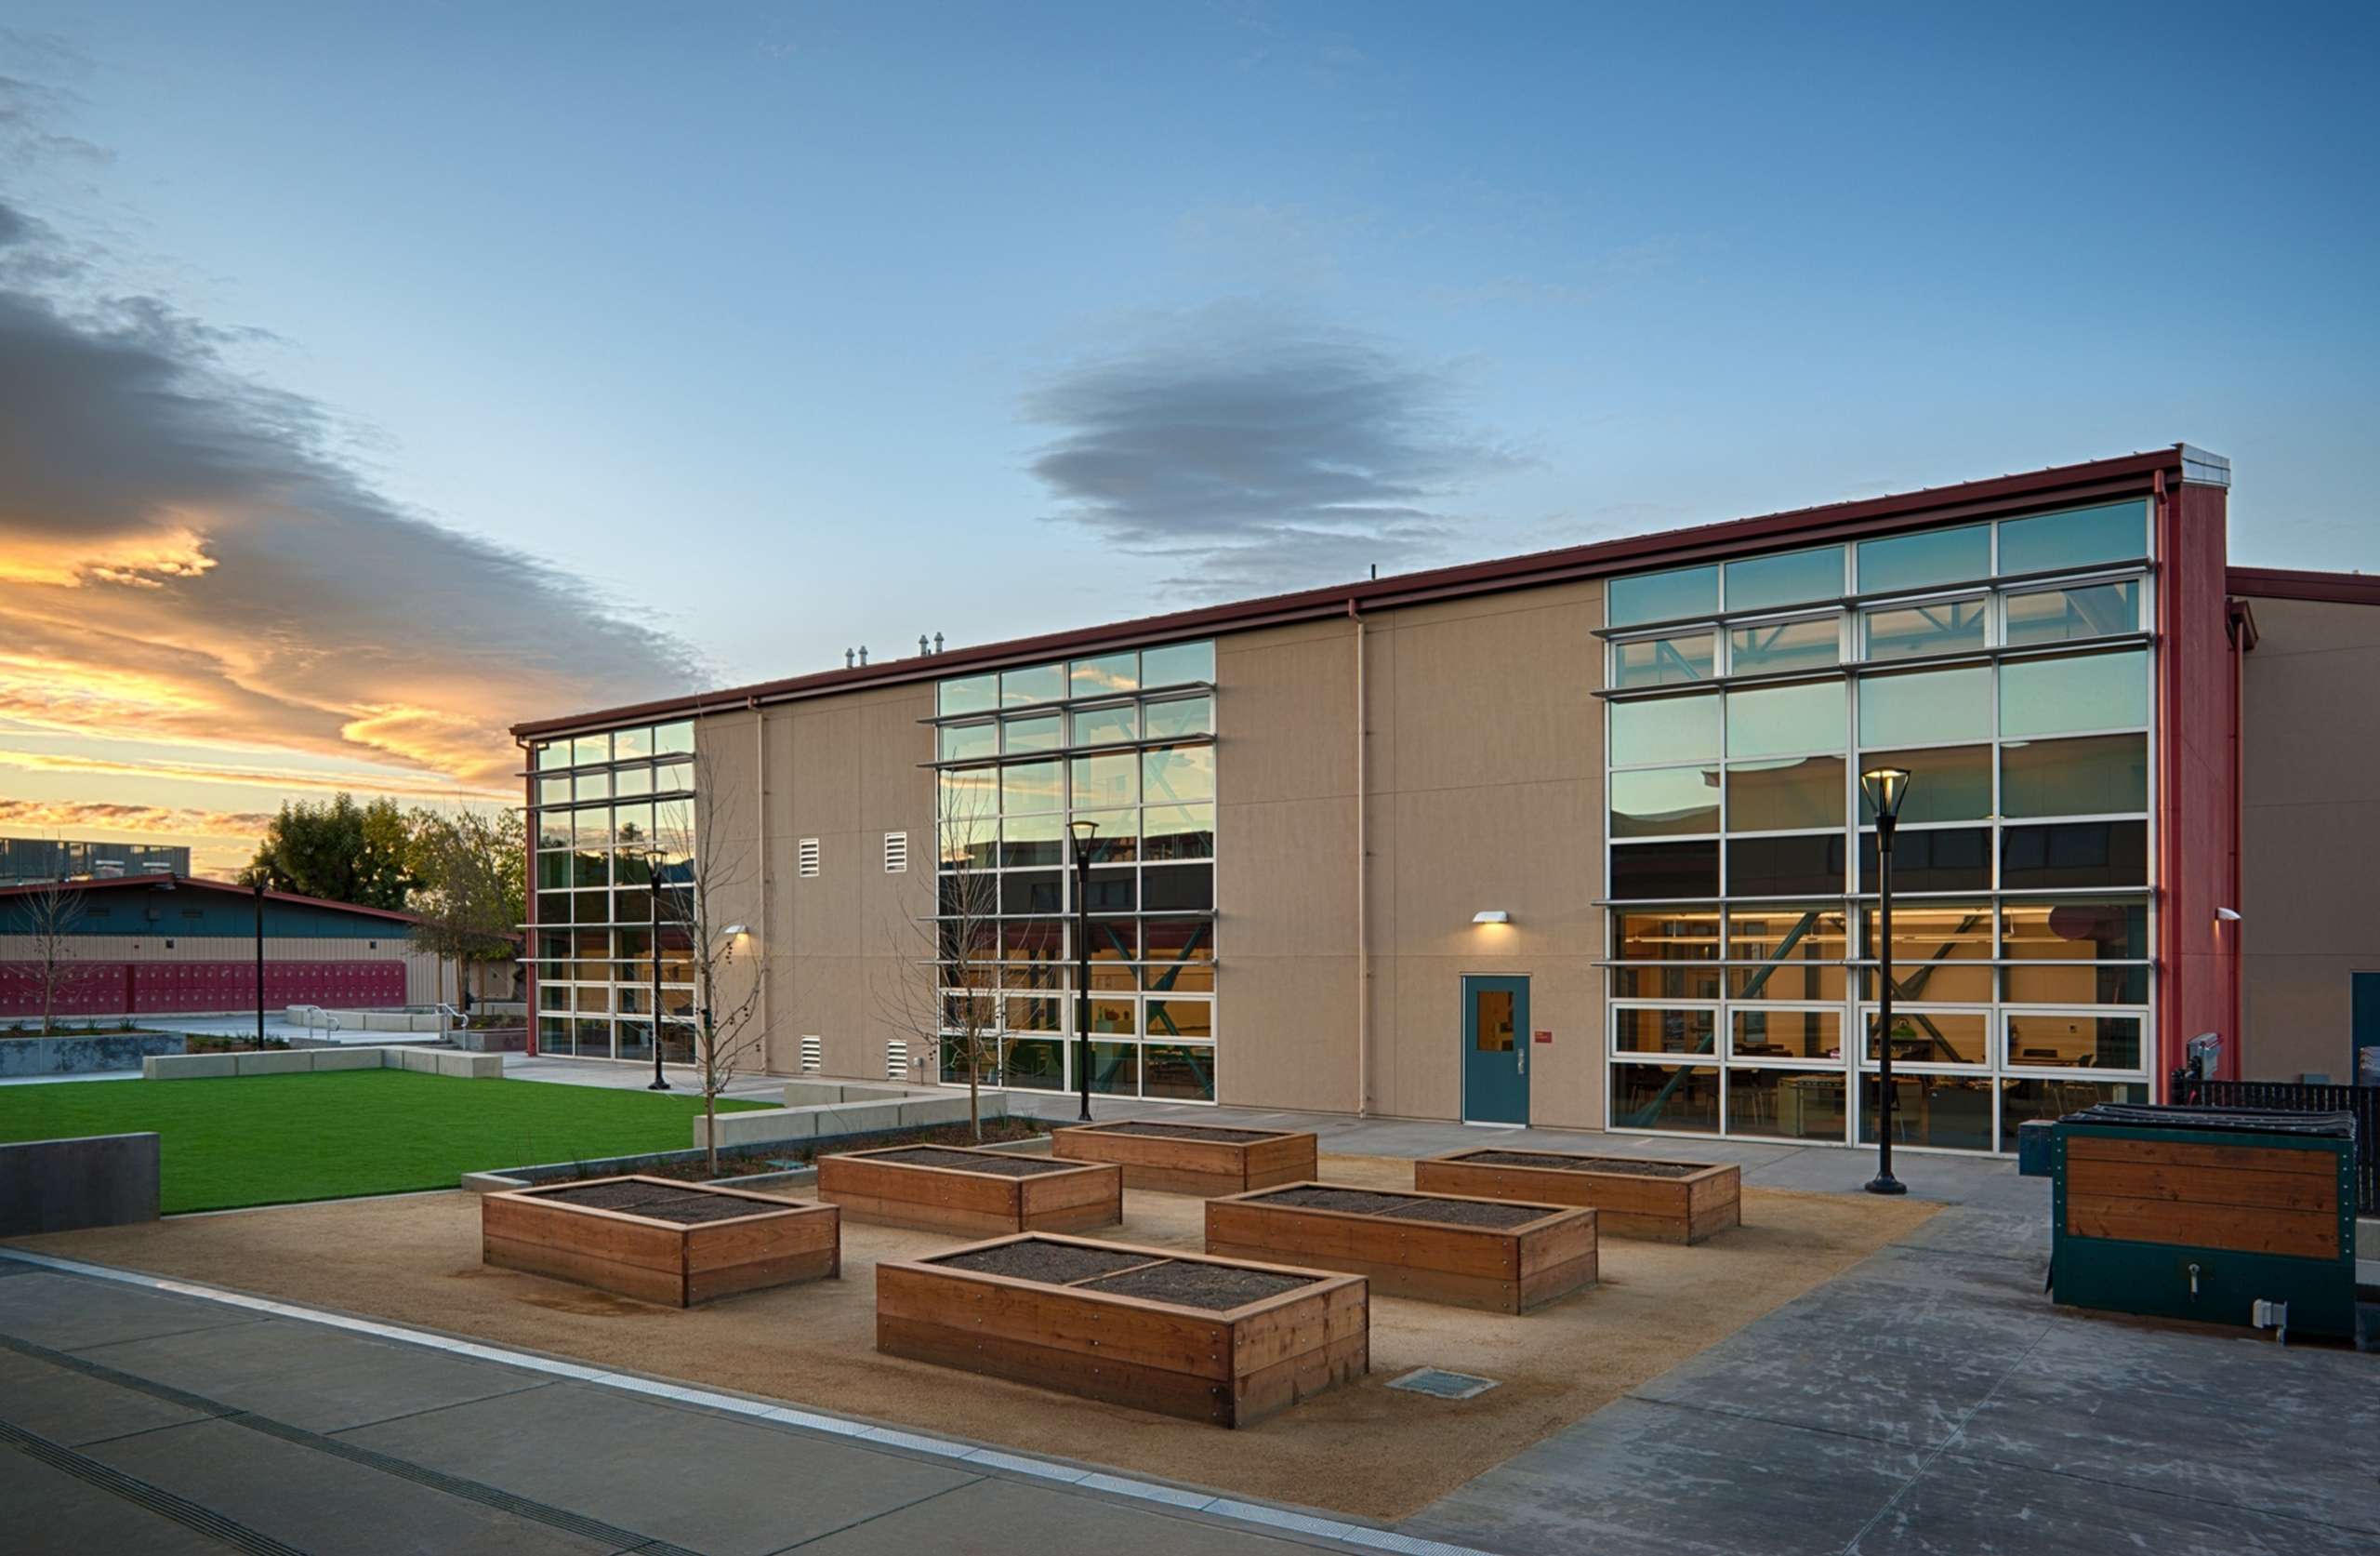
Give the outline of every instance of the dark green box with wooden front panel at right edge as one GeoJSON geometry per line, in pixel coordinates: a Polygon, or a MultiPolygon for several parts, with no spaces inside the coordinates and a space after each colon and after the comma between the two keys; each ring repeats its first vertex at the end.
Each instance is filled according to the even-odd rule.
{"type": "Polygon", "coordinates": [[[2059,1304],[2351,1339],[2351,1113],[2104,1102],[2056,1123],[2059,1304]]]}

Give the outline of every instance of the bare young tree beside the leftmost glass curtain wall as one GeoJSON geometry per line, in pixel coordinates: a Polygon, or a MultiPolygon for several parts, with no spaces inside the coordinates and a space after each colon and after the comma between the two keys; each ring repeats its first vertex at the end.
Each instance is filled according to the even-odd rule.
{"type": "MultiPolygon", "coordinates": [[[[731,902],[757,885],[752,847],[721,826],[733,811],[726,768],[695,752],[695,792],[685,802],[654,804],[652,954],[683,959],[695,985],[695,1078],[702,1087],[702,1133],[709,1173],[719,1175],[719,1097],[738,1073],[762,1068],[766,1033],[752,1023],[759,1011],[759,966],[750,930],[724,918],[731,902]]],[[[659,1044],[666,1018],[652,1014],[659,1044]]]]}

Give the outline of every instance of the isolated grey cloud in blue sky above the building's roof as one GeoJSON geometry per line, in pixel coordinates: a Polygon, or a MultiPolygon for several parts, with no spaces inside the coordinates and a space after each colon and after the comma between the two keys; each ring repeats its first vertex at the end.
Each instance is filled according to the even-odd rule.
{"type": "Polygon", "coordinates": [[[1264,305],[1211,305],[1026,395],[1057,428],[1031,471],[1057,519],[1178,564],[1192,595],[1273,592],[1416,566],[1452,502],[1526,464],[1457,423],[1452,371],[1264,305]]]}

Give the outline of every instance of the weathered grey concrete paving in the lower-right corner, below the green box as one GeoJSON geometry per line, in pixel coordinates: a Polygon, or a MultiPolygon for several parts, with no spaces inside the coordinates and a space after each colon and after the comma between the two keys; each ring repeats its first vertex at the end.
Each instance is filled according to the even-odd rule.
{"type": "Polygon", "coordinates": [[[1978,1185],[1399,1527],[1514,1556],[2380,1549],[2380,1356],[2054,1309],[2047,1194],[1978,1185]]]}

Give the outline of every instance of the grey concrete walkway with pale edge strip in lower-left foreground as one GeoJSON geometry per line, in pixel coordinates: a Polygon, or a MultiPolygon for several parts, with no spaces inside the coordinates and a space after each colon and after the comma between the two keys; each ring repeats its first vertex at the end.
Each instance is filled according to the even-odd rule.
{"type": "Polygon", "coordinates": [[[1347,1525],[1095,1466],[271,1306],[0,1249],[0,1546],[1449,1551],[1380,1530],[1349,1544],[1316,1532],[1347,1525]]]}

